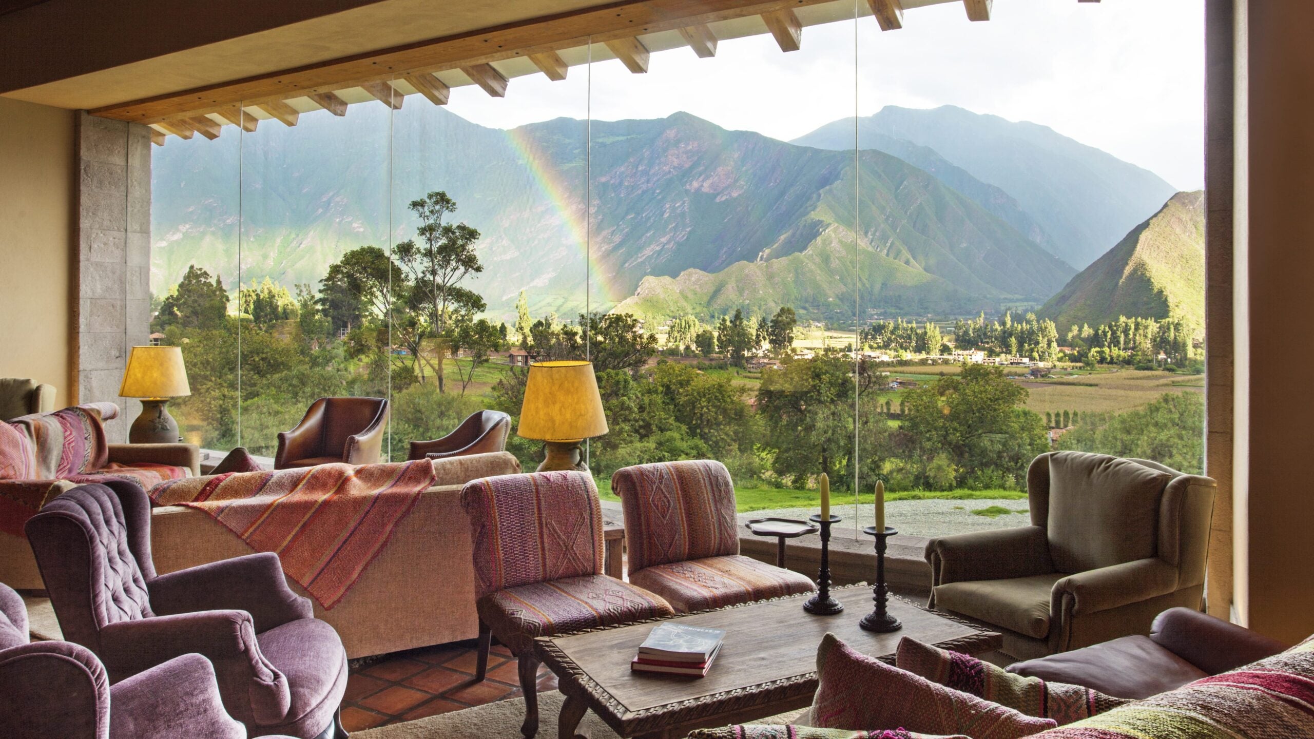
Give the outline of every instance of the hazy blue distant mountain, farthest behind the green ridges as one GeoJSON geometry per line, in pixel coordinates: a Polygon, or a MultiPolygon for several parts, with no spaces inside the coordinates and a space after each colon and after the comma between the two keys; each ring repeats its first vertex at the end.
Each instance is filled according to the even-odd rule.
{"type": "MultiPolygon", "coordinates": [[[[858,120],[859,147],[899,156],[905,145],[891,139],[930,147],[972,178],[1001,188],[1049,234],[1053,242],[1047,249],[1077,268],[1099,258],[1173,193],[1173,187],[1154,172],[1049,126],[953,105],[929,110],[888,105],[858,120]]],[[[794,143],[851,150],[853,118],[827,124],[794,143]]]]}

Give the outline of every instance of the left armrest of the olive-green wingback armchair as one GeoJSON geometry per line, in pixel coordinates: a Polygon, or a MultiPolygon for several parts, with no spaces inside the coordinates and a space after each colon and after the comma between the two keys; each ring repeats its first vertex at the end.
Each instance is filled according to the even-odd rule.
{"type": "Polygon", "coordinates": [[[932,586],[1054,572],[1045,529],[1020,526],[941,536],[926,543],[932,586]]]}

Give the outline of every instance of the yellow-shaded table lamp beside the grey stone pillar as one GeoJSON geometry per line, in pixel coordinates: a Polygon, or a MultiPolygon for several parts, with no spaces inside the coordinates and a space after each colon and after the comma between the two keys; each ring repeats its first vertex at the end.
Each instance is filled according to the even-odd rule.
{"type": "Polygon", "coordinates": [[[183,367],[183,348],[176,346],[134,346],[127,355],[122,397],[142,401],[142,414],[127,430],[127,441],[134,444],[176,444],[177,421],[168,414],[164,404],[171,397],[192,394],[183,367]]]}

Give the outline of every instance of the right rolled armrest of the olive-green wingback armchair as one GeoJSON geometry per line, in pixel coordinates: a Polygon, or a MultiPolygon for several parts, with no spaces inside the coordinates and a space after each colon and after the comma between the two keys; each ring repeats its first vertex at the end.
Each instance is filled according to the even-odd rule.
{"type": "Polygon", "coordinates": [[[1063,613],[1064,600],[1071,602],[1067,613],[1080,615],[1147,601],[1176,589],[1176,567],[1155,556],[1138,559],[1059,580],[1050,596],[1050,613],[1063,613]]]}

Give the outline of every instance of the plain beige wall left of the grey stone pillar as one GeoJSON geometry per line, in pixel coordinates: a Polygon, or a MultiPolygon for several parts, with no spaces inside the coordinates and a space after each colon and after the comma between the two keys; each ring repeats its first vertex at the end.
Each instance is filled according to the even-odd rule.
{"type": "Polygon", "coordinates": [[[76,400],[74,113],[0,97],[0,376],[76,400]]]}

